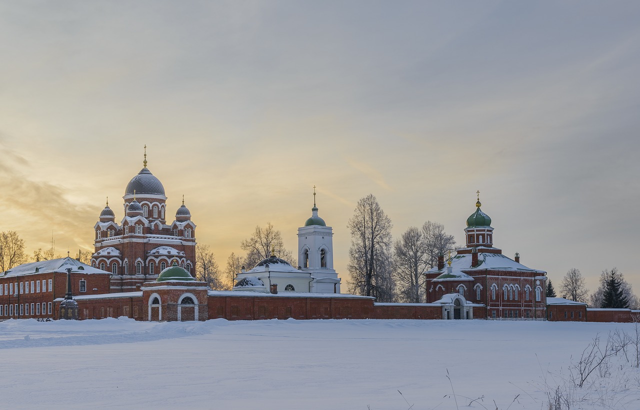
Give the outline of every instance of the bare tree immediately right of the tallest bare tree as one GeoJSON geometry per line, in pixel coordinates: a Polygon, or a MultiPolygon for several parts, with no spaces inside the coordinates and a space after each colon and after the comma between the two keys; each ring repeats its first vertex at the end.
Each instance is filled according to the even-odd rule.
{"type": "Polygon", "coordinates": [[[424,274],[428,266],[428,248],[419,228],[410,226],[394,243],[394,279],[401,301],[420,303],[424,274]]]}

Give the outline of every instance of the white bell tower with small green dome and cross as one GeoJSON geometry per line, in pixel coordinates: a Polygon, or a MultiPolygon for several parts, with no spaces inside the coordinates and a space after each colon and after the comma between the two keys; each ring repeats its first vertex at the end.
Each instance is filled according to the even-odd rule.
{"type": "Polygon", "coordinates": [[[298,228],[298,266],[314,278],[311,292],[340,293],[340,279],[333,269],[333,229],[318,216],[315,186],[311,217],[298,228]]]}

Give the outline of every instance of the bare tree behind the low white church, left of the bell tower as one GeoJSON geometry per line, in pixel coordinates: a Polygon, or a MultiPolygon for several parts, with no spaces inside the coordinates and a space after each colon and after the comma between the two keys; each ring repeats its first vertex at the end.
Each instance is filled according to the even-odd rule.
{"type": "Polygon", "coordinates": [[[260,260],[271,256],[271,251],[291,265],[298,262],[293,259],[291,251],[284,248],[282,235],[271,225],[271,222],[267,223],[266,228],[256,226],[251,237],[243,240],[240,247],[246,251],[244,263],[248,268],[254,267],[260,260]]]}

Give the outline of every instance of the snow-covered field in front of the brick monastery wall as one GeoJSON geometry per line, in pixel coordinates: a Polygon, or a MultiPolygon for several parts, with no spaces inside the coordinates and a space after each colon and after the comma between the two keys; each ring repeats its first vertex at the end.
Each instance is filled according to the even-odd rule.
{"type": "Polygon", "coordinates": [[[0,407],[547,409],[561,384],[572,408],[640,409],[640,373],[620,354],[606,377],[567,388],[570,363],[615,329],[634,325],[7,320],[0,407]]]}

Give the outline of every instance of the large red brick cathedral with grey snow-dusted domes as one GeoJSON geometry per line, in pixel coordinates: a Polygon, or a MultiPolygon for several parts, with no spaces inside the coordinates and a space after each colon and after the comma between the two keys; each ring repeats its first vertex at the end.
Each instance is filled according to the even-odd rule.
{"type": "MultiPolygon", "coordinates": [[[[146,148],[146,147],[145,147],[146,148]]],[[[142,283],[175,262],[191,275],[195,265],[195,229],[191,212],[182,206],[166,221],[166,196],[160,180],[143,168],[125,189],[124,218],[118,224],[109,201],[95,224],[92,266],[111,272],[111,292],[140,290],[142,283]]]]}

